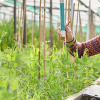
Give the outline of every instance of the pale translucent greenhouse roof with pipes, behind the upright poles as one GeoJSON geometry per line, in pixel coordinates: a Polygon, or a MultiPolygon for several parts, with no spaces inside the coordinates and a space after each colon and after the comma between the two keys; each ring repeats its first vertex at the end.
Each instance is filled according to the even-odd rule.
{"type": "MultiPolygon", "coordinates": [[[[68,1],[68,0],[67,0],[68,1]]],[[[74,23],[76,23],[77,18],[77,8],[78,1],[80,1],[80,11],[81,11],[81,19],[82,26],[85,26],[88,23],[88,12],[89,12],[89,0],[73,0],[75,3],[75,15],[74,15],[74,23]]],[[[17,8],[20,7],[23,0],[16,0],[17,8]]],[[[39,21],[39,2],[40,0],[26,0],[26,8],[27,8],[27,20],[32,20],[32,12],[35,14],[35,21],[39,21]]],[[[52,1],[52,11],[53,11],[53,23],[57,24],[60,20],[60,2],[59,0],[52,1]]],[[[66,0],[64,0],[66,2],[66,0]]],[[[13,16],[14,8],[14,0],[0,0],[0,14],[1,19],[3,19],[4,14],[6,14],[6,19],[9,16],[13,16]]],[[[42,0],[42,15],[44,9],[44,0],[42,0]]],[[[91,0],[91,9],[94,12],[94,23],[97,26],[100,26],[100,1],[99,0],[91,0]]],[[[18,15],[18,9],[17,9],[18,15]]],[[[43,17],[42,17],[43,20],[43,17]]],[[[50,23],[50,0],[46,0],[46,22],[50,23]]]]}

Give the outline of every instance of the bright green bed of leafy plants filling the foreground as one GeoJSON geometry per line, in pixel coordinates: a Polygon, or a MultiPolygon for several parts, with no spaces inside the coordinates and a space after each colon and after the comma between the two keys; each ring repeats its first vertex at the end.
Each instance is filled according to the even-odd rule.
{"type": "Polygon", "coordinates": [[[10,98],[8,100],[63,100],[89,86],[100,77],[99,55],[88,58],[84,54],[79,59],[76,53],[74,67],[74,59],[72,56],[68,57],[68,52],[68,55],[65,54],[65,48],[58,52],[54,45],[54,53],[51,56],[49,56],[48,48],[46,44],[44,85],[43,44],[41,46],[40,80],[38,79],[39,49],[37,46],[26,45],[21,53],[18,48],[15,50],[9,48],[0,52],[0,99],[5,98],[2,94],[6,94],[10,98]]]}

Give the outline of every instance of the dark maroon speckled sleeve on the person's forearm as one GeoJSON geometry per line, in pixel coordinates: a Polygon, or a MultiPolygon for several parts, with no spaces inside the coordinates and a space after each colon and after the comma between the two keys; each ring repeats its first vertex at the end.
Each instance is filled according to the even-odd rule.
{"type": "Polygon", "coordinates": [[[81,58],[83,56],[85,49],[87,48],[88,56],[93,56],[100,53],[100,35],[87,41],[87,42],[75,42],[75,44],[70,47],[70,53],[73,55],[73,52],[76,52],[78,48],[78,56],[81,58]]]}

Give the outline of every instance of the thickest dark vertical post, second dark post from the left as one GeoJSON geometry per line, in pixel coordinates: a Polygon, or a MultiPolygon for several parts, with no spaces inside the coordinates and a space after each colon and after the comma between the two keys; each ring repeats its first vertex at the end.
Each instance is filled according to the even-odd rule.
{"type": "Polygon", "coordinates": [[[26,0],[23,0],[23,15],[25,16],[24,17],[24,30],[23,30],[23,44],[26,45],[26,43],[27,43],[27,34],[26,34],[26,0]]]}

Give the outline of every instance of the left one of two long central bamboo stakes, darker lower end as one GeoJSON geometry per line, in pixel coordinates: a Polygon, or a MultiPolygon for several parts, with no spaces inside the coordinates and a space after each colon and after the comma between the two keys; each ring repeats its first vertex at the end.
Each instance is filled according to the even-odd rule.
{"type": "Polygon", "coordinates": [[[40,79],[40,50],[41,50],[41,0],[39,9],[39,67],[38,67],[38,78],[40,79]]]}

